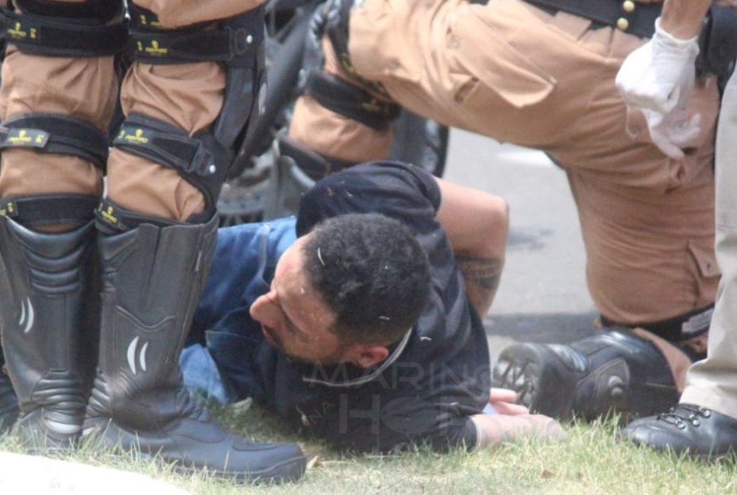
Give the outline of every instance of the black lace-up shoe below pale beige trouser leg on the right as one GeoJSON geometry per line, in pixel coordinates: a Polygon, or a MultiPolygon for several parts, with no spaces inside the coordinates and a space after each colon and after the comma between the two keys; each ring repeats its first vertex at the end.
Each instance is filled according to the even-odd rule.
{"type": "Polygon", "coordinates": [[[638,445],[688,452],[702,459],[737,453],[737,419],[694,404],[632,421],[618,435],[638,445]]]}

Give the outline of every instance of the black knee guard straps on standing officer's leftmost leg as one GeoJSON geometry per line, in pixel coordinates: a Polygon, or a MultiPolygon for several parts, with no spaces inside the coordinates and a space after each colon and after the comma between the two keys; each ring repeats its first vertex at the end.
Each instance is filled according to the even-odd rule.
{"type": "MultiPolygon", "coordinates": [[[[0,9],[0,35],[19,51],[45,57],[99,57],[118,54],[128,38],[122,1],[83,3],[15,0],[0,9]],[[22,11],[16,12],[18,7],[22,11]]],[[[105,174],[108,136],[90,122],[68,115],[29,113],[2,123],[0,150],[26,148],[37,153],[70,154],[105,174]]],[[[97,199],[69,194],[4,199],[2,214],[27,227],[84,224],[97,199]]]]}

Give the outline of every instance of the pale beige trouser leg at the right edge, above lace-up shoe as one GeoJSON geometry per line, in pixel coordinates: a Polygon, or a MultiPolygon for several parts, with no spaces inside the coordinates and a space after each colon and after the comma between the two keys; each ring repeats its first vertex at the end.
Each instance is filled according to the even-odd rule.
{"type": "Polygon", "coordinates": [[[722,280],[708,356],[686,375],[681,402],[737,419],[737,77],[727,83],[716,138],[716,257],[722,280]]]}

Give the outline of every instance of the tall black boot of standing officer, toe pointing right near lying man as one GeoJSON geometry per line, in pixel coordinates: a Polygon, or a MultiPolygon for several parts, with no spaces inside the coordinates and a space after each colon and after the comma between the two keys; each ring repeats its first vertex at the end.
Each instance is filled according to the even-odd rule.
{"type": "Polygon", "coordinates": [[[226,432],[184,387],[178,364],[209,270],[208,224],[139,227],[99,235],[102,328],[85,435],[104,446],[160,456],[183,471],[251,481],[293,480],[296,444],[256,444],[226,432]]]}

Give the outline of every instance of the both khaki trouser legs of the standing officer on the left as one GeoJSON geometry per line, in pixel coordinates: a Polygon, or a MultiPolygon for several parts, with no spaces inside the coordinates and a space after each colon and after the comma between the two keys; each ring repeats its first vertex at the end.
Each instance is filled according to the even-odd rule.
{"type": "MultiPolygon", "coordinates": [[[[63,1],[63,0],[59,0],[63,1]]],[[[66,0],[70,1],[70,0],[66,0]]],[[[227,18],[265,0],[137,0],[176,28],[227,18]]],[[[219,63],[134,63],[125,76],[125,115],[139,112],[185,129],[208,128],[220,113],[225,69],[219,63]]],[[[118,97],[113,57],[41,57],[12,45],[2,65],[0,118],[23,113],[60,113],[106,131],[118,97]]],[[[113,149],[108,158],[108,197],[139,213],[186,220],[204,209],[203,196],[177,171],[113,149]]],[[[60,154],[7,149],[0,162],[0,197],[43,193],[102,196],[102,174],[85,160],[60,154]]]]}

